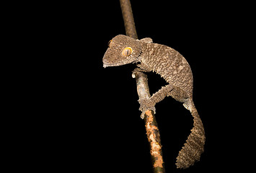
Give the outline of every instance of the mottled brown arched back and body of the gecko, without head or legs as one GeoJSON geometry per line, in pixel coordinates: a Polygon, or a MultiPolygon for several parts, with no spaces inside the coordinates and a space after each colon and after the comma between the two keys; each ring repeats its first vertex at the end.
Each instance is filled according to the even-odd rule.
{"type": "Polygon", "coordinates": [[[185,58],[172,48],[157,43],[143,45],[145,55],[142,62],[146,63],[152,71],[164,78],[169,84],[174,84],[192,97],[193,75],[190,65],[185,58]]]}

